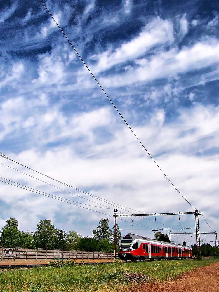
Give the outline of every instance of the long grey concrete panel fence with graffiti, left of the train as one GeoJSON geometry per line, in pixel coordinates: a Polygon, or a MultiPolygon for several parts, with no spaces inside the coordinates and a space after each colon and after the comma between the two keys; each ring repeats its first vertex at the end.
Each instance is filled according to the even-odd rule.
{"type": "Polygon", "coordinates": [[[96,251],[65,251],[40,248],[0,247],[0,259],[3,260],[102,260],[113,259],[114,253],[96,251]]]}

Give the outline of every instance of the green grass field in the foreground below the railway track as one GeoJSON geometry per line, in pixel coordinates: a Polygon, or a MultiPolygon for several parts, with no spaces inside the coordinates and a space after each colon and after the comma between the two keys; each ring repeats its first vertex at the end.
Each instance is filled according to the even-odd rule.
{"type": "Polygon", "coordinates": [[[19,269],[0,274],[0,292],[129,291],[133,283],[124,274],[143,273],[155,282],[174,279],[196,267],[219,262],[218,258],[197,260],[112,263],[108,265],[19,269]]]}

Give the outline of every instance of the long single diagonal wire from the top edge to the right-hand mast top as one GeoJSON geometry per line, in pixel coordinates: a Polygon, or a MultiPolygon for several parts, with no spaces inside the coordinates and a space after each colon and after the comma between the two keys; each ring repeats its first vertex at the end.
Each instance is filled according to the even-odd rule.
{"type": "Polygon", "coordinates": [[[125,118],[122,116],[122,114],[119,112],[119,110],[117,109],[117,107],[114,105],[114,103],[112,102],[112,100],[109,98],[109,96],[107,95],[107,93],[105,92],[105,90],[102,88],[102,86],[100,85],[100,83],[98,82],[98,80],[95,78],[95,76],[93,75],[93,73],[91,72],[91,70],[89,69],[89,67],[86,65],[86,63],[84,62],[84,60],[81,58],[81,56],[79,55],[79,53],[77,52],[77,50],[74,48],[74,46],[72,45],[72,43],[69,41],[69,39],[67,38],[66,34],[63,32],[63,30],[61,29],[61,27],[58,25],[58,23],[56,22],[55,18],[53,17],[53,15],[50,13],[50,11],[48,10],[48,8],[46,7],[46,5],[44,4],[44,2],[42,0],[40,0],[43,4],[43,6],[46,8],[46,10],[48,11],[49,15],[53,18],[54,22],[56,23],[56,25],[59,27],[60,31],[62,32],[62,34],[65,36],[65,38],[67,39],[67,41],[69,42],[70,46],[72,46],[72,48],[74,49],[75,53],[78,55],[78,57],[81,59],[81,61],[83,62],[83,64],[85,65],[85,67],[88,69],[88,71],[91,73],[92,77],[95,79],[95,81],[97,82],[97,84],[100,86],[100,88],[102,89],[102,91],[104,92],[104,94],[106,95],[106,97],[109,99],[109,101],[111,102],[111,104],[113,105],[113,107],[116,109],[116,111],[118,112],[118,114],[120,115],[120,117],[123,119],[123,121],[125,122],[125,124],[128,126],[128,128],[131,130],[131,132],[133,133],[133,135],[135,136],[135,138],[138,140],[138,142],[142,145],[142,147],[144,148],[144,150],[147,152],[147,154],[150,156],[150,158],[154,161],[154,163],[157,165],[157,167],[159,168],[159,170],[164,174],[164,176],[167,178],[167,180],[171,183],[171,185],[175,188],[175,190],[183,197],[183,199],[185,199],[187,201],[187,203],[189,203],[194,209],[196,209],[181,193],[180,191],[175,187],[175,185],[171,182],[171,180],[167,177],[167,175],[164,173],[164,171],[162,171],[162,169],[160,168],[160,166],[157,164],[157,162],[154,160],[154,158],[151,156],[151,154],[147,151],[147,149],[145,148],[145,146],[142,144],[142,142],[140,141],[140,139],[138,138],[138,136],[135,134],[135,132],[132,130],[131,126],[129,126],[128,122],[126,122],[125,118]]]}

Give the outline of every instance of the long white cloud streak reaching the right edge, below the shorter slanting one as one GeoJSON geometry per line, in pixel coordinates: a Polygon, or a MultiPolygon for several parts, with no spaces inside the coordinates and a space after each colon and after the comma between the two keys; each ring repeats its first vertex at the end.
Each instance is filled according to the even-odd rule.
{"type": "Polygon", "coordinates": [[[200,41],[194,46],[162,51],[148,59],[139,59],[138,68],[131,68],[124,74],[100,78],[105,87],[124,86],[135,82],[147,82],[157,78],[173,77],[179,73],[198,70],[219,62],[219,42],[216,39],[200,41]]]}

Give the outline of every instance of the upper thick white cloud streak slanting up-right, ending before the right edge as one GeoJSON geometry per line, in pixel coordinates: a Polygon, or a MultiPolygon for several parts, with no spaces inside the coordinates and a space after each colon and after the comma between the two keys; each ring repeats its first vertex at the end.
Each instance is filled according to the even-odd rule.
{"type": "Polygon", "coordinates": [[[123,64],[128,60],[143,56],[152,46],[172,41],[173,27],[171,22],[156,18],[130,42],[122,44],[114,51],[110,48],[100,55],[93,55],[91,58],[97,60],[97,64],[91,65],[90,69],[93,73],[107,70],[114,65],[123,64]]]}

